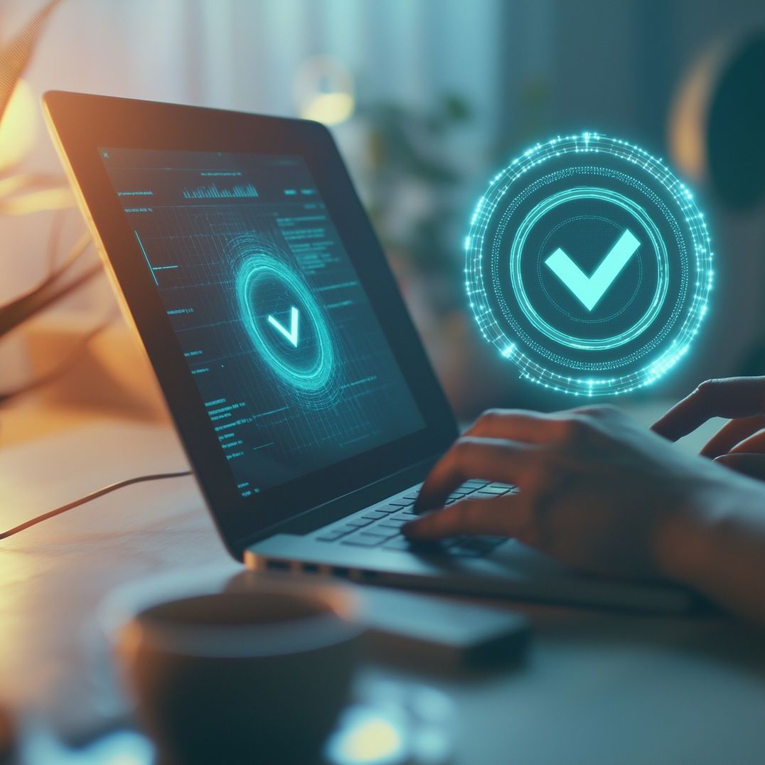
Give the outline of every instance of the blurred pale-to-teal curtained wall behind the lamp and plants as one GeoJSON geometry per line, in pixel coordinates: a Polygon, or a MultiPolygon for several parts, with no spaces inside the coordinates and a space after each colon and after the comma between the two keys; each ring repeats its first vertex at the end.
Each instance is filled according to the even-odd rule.
{"type": "MultiPolygon", "coordinates": [[[[2,35],[32,8],[29,0],[2,2],[2,35]]],[[[298,67],[329,53],[369,102],[418,109],[459,93],[474,109],[448,145],[464,171],[457,192],[464,214],[444,222],[459,258],[472,202],[503,159],[540,135],[581,129],[666,155],[669,104],[686,67],[721,35],[763,24],[761,0],[67,0],[28,80],[37,93],[61,88],[293,114],[298,67]]],[[[363,184],[356,133],[353,121],[336,129],[363,184]]],[[[43,129],[28,165],[57,168],[43,129]]],[[[738,219],[699,190],[715,238],[717,291],[704,339],[660,394],[730,373],[765,327],[763,215],[738,219]]],[[[0,300],[41,275],[49,220],[47,213],[0,220],[0,300]]],[[[77,213],[67,226],[73,237],[77,213]]],[[[75,302],[100,310],[109,301],[99,285],[75,302]]]]}

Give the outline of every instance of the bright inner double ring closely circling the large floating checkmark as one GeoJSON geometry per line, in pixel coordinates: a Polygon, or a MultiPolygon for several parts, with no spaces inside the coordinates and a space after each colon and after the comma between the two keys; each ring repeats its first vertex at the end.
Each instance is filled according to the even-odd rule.
{"type": "Polygon", "coordinates": [[[558,194],[552,194],[550,197],[546,197],[539,202],[531,212],[526,214],[526,217],[518,227],[516,236],[513,237],[513,246],[510,248],[510,279],[521,310],[526,315],[529,323],[551,340],[556,340],[558,343],[568,345],[568,347],[571,348],[581,348],[583,350],[608,350],[610,348],[616,348],[624,343],[629,343],[630,340],[634,340],[638,335],[643,334],[643,332],[653,324],[653,320],[659,314],[664,298],[666,298],[667,289],[669,288],[669,282],[667,281],[668,271],[669,256],[667,256],[666,245],[662,240],[659,229],[656,227],[656,223],[646,215],[646,211],[643,210],[640,205],[634,203],[633,200],[627,199],[623,194],[618,194],[616,191],[611,191],[609,189],[577,187],[559,191],[558,194]],[[529,296],[526,295],[526,289],[523,287],[523,278],[520,270],[520,254],[523,250],[523,245],[526,243],[526,238],[529,236],[529,232],[535,224],[539,222],[539,219],[546,213],[549,213],[550,210],[554,210],[558,205],[574,199],[597,199],[610,202],[611,204],[615,204],[617,207],[626,210],[638,223],[640,223],[640,226],[643,227],[659,261],[659,278],[656,280],[656,291],[654,291],[648,310],[635,322],[635,324],[632,325],[632,327],[614,337],[586,339],[565,334],[565,332],[556,329],[552,324],[549,324],[549,322],[539,316],[531,304],[531,301],[529,301],[529,296]]]}

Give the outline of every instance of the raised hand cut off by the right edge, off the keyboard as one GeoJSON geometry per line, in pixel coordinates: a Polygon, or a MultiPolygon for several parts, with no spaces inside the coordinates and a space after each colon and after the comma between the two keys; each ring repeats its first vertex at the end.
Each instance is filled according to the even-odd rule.
{"type": "Polygon", "coordinates": [[[765,480],[765,377],[702,382],[657,420],[652,430],[677,441],[712,417],[727,417],[731,422],[705,444],[702,456],[765,480]]]}

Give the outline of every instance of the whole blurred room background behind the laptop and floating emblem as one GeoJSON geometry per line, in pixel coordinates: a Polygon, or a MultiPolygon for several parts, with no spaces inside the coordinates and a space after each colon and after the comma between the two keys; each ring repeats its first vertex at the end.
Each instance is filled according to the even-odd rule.
{"type": "MultiPolygon", "coordinates": [[[[2,0],[2,40],[42,5],[2,0]]],[[[461,241],[494,172],[538,139],[589,129],[668,159],[713,236],[700,342],[638,398],[765,373],[763,29],[761,0],[63,0],[0,130],[0,305],[55,272],[84,230],[45,90],[304,116],[333,130],[457,414],[563,408],[480,340],[461,241]]],[[[95,259],[88,249],[75,270],[95,259]]],[[[161,412],[103,276],[12,329],[0,327],[0,392],[50,376],[39,395],[161,412]]]]}

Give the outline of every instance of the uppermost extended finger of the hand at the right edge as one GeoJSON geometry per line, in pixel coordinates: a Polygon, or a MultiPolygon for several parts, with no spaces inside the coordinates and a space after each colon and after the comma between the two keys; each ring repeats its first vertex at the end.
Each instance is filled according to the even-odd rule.
{"type": "Polygon", "coordinates": [[[765,377],[729,377],[702,382],[653,423],[653,431],[677,441],[711,417],[765,415],[765,377]]]}

